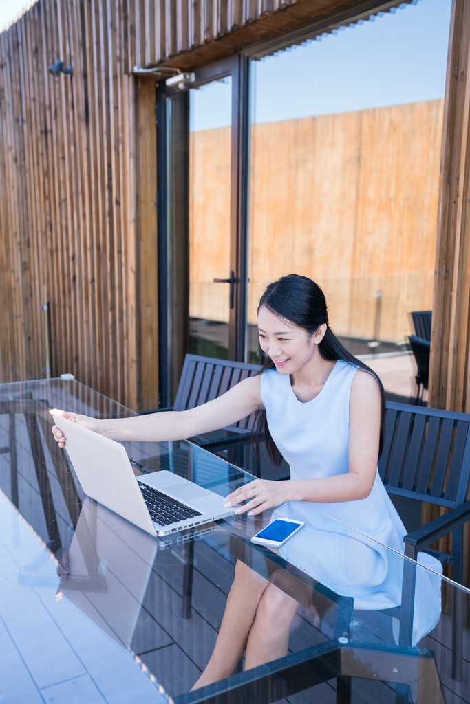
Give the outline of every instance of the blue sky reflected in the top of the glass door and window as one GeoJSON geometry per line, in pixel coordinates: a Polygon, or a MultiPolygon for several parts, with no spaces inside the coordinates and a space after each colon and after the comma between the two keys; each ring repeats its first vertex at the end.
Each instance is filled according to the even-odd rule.
{"type": "MultiPolygon", "coordinates": [[[[443,98],[450,0],[420,0],[252,63],[252,122],[443,98]]],[[[227,127],[230,82],[190,91],[191,130],[227,127]]]]}

